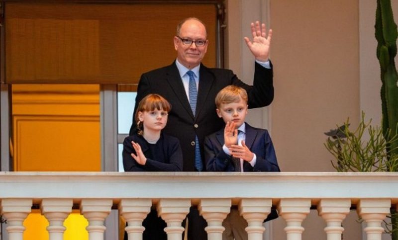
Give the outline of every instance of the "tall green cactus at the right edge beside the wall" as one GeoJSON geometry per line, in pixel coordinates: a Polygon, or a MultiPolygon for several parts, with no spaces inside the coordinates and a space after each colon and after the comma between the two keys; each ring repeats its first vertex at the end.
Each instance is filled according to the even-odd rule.
{"type": "MultiPolygon", "coordinates": [[[[397,135],[398,126],[398,74],[394,61],[397,55],[398,33],[390,0],[377,0],[375,29],[378,42],[377,58],[380,62],[383,83],[381,89],[383,133],[388,141],[388,138],[397,135]],[[391,134],[388,134],[389,131],[391,134]]],[[[392,150],[392,155],[398,154],[397,141],[387,147],[392,150]]],[[[391,239],[398,240],[398,215],[395,210],[391,211],[391,223],[393,225],[391,239]]]]}

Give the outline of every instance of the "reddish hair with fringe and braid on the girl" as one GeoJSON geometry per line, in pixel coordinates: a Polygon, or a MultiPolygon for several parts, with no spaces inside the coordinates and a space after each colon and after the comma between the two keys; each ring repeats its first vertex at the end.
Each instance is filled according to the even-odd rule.
{"type": "Polygon", "coordinates": [[[153,110],[163,110],[170,112],[171,104],[164,97],[159,94],[148,94],[138,103],[137,111],[135,112],[135,121],[137,122],[137,133],[142,135],[143,133],[143,123],[138,117],[138,112],[153,111],[153,110]]]}

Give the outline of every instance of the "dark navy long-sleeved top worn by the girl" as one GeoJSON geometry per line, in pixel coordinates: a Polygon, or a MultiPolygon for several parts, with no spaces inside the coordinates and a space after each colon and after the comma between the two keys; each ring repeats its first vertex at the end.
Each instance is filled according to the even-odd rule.
{"type": "Polygon", "coordinates": [[[148,142],[140,135],[128,136],[123,142],[124,171],[182,171],[183,153],[177,138],[161,133],[160,138],[152,149],[148,142]],[[131,157],[135,153],[131,141],[138,143],[147,158],[145,165],[138,164],[131,157]]]}

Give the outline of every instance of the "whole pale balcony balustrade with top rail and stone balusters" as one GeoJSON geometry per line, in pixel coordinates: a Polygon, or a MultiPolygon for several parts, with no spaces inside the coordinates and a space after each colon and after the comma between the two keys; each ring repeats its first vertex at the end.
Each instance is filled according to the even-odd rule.
{"type": "Polygon", "coordinates": [[[248,222],[249,240],[262,240],[262,222],[277,208],[287,240],[301,240],[310,208],[326,221],[327,240],[340,240],[351,207],[366,221],[368,240],[381,240],[381,226],[398,202],[398,173],[226,173],[226,172],[0,172],[0,212],[9,240],[23,239],[32,206],[49,221],[50,240],[62,240],[72,207],[89,221],[90,240],[103,240],[104,220],[113,209],[126,220],[129,240],[141,239],[142,221],[155,205],[169,240],[181,240],[181,223],[192,205],[207,221],[209,240],[221,240],[231,205],[248,222]]]}

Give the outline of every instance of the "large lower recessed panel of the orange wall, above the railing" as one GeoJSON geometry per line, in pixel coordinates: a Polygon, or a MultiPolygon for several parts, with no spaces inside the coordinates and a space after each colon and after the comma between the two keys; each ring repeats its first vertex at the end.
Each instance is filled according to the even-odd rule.
{"type": "Polygon", "coordinates": [[[14,116],[16,171],[100,171],[100,121],[91,116],[14,116]]]}

